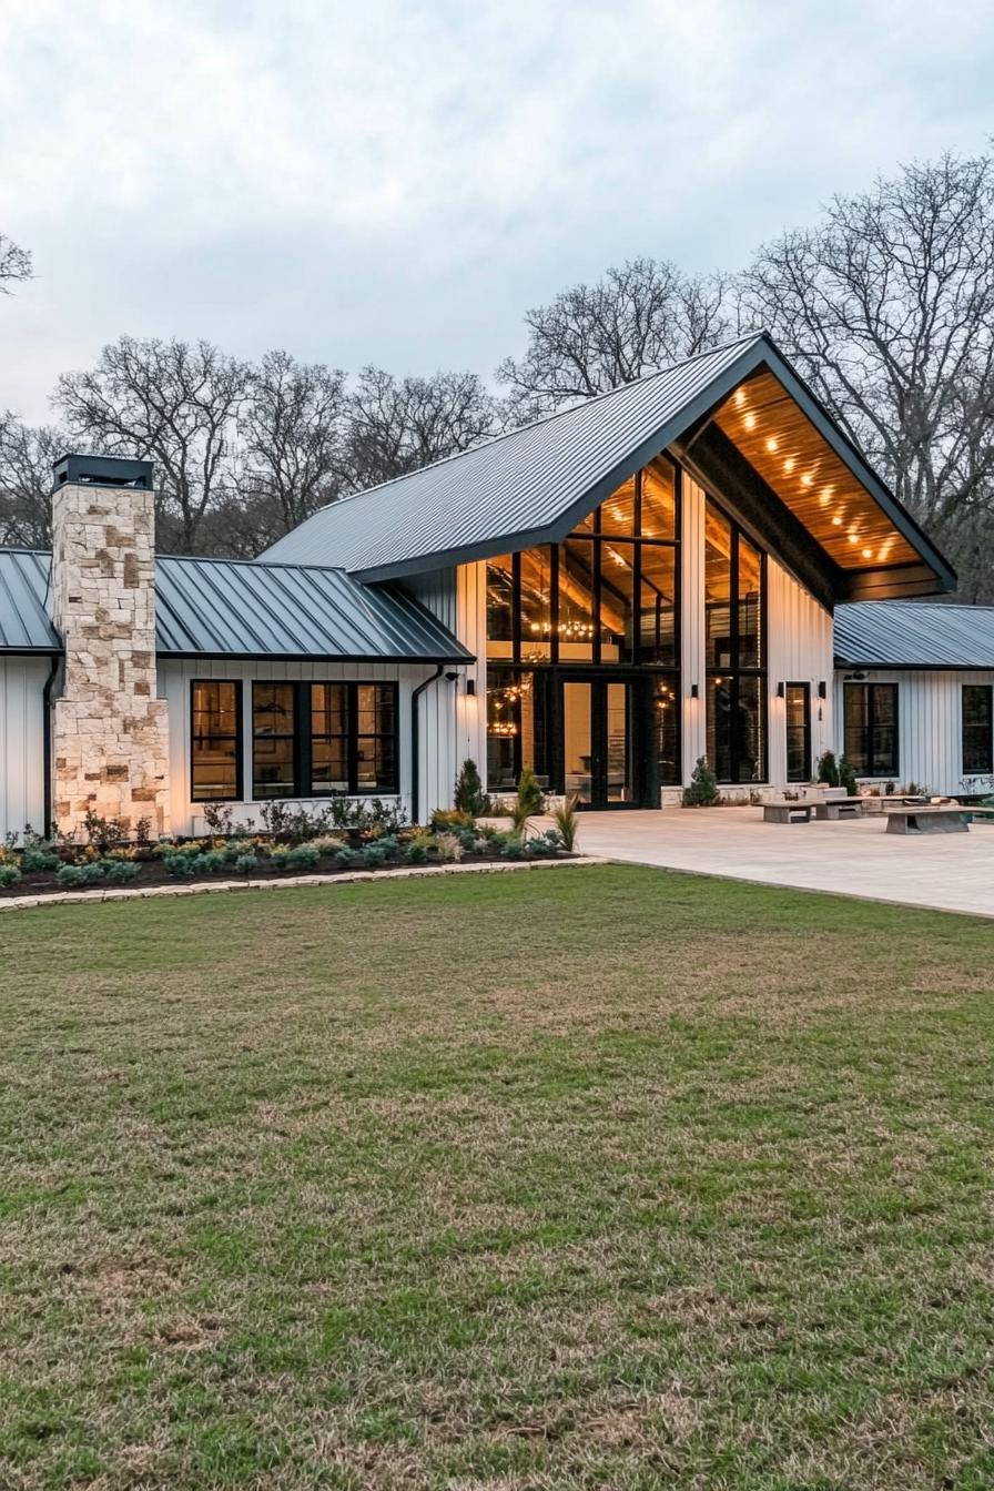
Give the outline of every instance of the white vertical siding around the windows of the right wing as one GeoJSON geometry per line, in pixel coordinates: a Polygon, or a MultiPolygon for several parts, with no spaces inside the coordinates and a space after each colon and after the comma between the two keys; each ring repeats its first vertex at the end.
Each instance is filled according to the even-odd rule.
{"type": "MultiPolygon", "coordinates": [[[[855,668],[836,674],[836,754],[845,753],[845,678],[855,668]]],[[[994,775],[963,772],[963,686],[994,684],[994,669],[940,671],[925,668],[860,668],[867,683],[897,684],[897,774],[899,787],[914,783],[933,795],[955,798],[994,792],[994,775]]],[[[869,783],[873,784],[873,783],[869,783]]]]}

